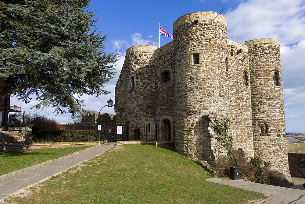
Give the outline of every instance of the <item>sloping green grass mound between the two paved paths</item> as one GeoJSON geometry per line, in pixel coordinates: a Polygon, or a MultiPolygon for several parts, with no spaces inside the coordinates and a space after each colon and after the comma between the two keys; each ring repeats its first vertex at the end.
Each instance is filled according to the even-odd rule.
{"type": "Polygon", "coordinates": [[[263,194],[204,180],[172,148],[116,146],[7,203],[247,203],[263,194]]]}

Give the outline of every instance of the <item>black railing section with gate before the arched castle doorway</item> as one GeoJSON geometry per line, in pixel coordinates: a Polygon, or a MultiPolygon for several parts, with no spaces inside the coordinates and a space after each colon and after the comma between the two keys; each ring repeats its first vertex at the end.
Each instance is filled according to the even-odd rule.
{"type": "Polygon", "coordinates": [[[123,125],[122,134],[117,133],[117,124],[101,124],[100,138],[108,142],[121,140],[174,141],[175,126],[164,124],[123,125]]]}

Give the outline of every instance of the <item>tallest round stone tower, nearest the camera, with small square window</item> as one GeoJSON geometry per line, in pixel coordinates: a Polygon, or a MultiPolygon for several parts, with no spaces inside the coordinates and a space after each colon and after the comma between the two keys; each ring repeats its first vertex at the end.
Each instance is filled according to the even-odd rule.
{"type": "Polygon", "coordinates": [[[214,160],[227,152],[211,125],[229,114],[227,21],[216,12],[193,12],[178,18],[173,32],[176,150],[214,160]]]}

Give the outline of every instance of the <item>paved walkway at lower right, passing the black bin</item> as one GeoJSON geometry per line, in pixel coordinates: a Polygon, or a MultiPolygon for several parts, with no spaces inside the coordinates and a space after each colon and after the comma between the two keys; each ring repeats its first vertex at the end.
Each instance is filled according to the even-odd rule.
{"type": "Polygon", "coordinates": [[[219,178],[209,178],[207,181],[214,183],[219,183],[223,185],[229,185],[235,188],[242,188],[248,191],[255,191],[269,195],[269,198],[264,202],[258,203],[268,203],[268,204],[278,204],[278,203],[305,203],[305,190],[303,188],[304,178],[292,178],[292,182],[295,184],[293,188],[284,188],[279,186],[264,185],[253,183],[244,180],[222,180],[219,178]]]}

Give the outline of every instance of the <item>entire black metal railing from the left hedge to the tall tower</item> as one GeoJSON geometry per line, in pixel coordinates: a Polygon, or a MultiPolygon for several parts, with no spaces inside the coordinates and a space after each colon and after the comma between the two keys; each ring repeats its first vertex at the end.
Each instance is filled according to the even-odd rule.
{"type": "Polygon", "coordinates": [[[32,142],[90,142],[106,139],[108,142],[121,140],[174,141],[175,126],[164,124],[123,125],[118,134],[114,122],[98,124],[50,123],[33,125],[32,142]]]}

